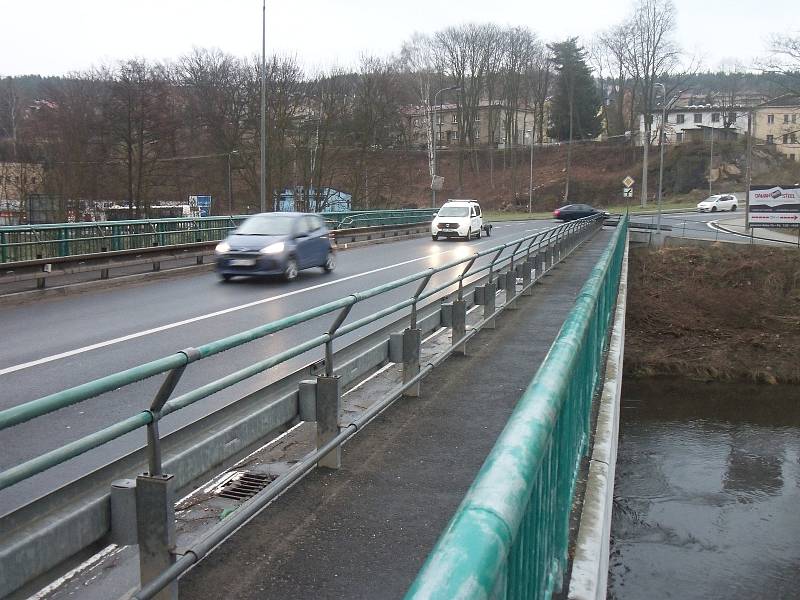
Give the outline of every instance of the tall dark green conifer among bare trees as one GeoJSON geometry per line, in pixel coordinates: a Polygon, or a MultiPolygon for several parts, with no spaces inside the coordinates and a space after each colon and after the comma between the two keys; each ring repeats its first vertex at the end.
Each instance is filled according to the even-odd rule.
{"type": "Polygon", "coordinates": [[[570,105],[572,139],[595,137],[600,132],[600,99],[586,64],[586,51],[578,46],[578,38],[548,44],[558,73],[551,103],[550,127],[547,135],[557,140],[570,139],[570,105]]]}

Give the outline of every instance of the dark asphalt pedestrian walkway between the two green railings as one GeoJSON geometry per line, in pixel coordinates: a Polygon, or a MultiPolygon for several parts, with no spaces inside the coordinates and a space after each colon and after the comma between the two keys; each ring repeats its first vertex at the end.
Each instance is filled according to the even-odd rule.
{"type": "Polygon", "coordinates": [[[613,231],[180,580],[182,598],[400,598],[533,378],[613,231]]]}

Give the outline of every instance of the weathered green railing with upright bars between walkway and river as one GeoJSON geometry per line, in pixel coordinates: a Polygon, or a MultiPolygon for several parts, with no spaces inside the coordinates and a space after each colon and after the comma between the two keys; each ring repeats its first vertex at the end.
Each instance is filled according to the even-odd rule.
{"type": "Polygon", "coordinates": [[[406,600],[550,598],[619,287],[624,217],[406,600]]]}

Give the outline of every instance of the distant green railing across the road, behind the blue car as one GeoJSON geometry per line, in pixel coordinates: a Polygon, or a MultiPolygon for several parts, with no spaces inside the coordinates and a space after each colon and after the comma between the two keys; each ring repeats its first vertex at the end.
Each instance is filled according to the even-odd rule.
{"type": "MultiPolygon", "coordinates": [[[[433,218],[436,209],[320,213],[331,229],[411,225],[433,218]]],[[[83,256],[223,239],[247,215],[54,223],[0,227],[0,263],[83,256]]]]}

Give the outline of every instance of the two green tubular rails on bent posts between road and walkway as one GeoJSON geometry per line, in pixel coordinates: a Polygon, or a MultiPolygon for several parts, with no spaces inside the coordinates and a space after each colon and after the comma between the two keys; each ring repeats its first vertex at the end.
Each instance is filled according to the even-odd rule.
{"type": "MultiPolygon", "coordinates": [[[[516,248],[514,252],[512,252],[508,256],[503,257],[500,260],[501,263],[506,260],[513,260],[517,256],[517,254],[524,254],[524,253],[529,254],[531,252],[531,247],[536,242],[537,238],[539,238],[539,247],[541,247],[545,239],[550,239],[552,237],[554,231],[564,231],[566,229],[571,229],[592,223],[596,220],[598,219],[590,217],[587,219],[582,219],[580,223],[577,222],[565,223],[546,229],[544,231],[531,233],[521,238],[518,238],[514,241],[507,242],[505,244],[498,244],[492,248],[482,250],[480,252],[475,252],[469,256],[455,259],[443,265],[439,265],[437,267],[431,267],[423,271],[414,273],[412,275],[408,275],[406,277],[402,277],[381,284],[379,286],[375,286],[367,290],[363,290],[361,292],[357,292],[345,296],[343,298],[339,298],[338,300],[325,303],[321,306],[307,309],[299,313],[296,313],[294,315],[290,315],[288,317],[272,321],[265,325],[248,329],[246,331],[233,334],[231,336],[222,338],[220,340],[209,342],[198,348],[188,348],[180,352],[171,354],[169,356],[156,359],[123,371],[119,371],[111,375],[106,375],[105,377],[101,377],[99,379],[69,388],[67,390],[62,390],[60,392],[49,394],[47,396],[38,398],[36,400],[31,400],[19,406],[5,409],[3,411],[0,411],[0,431],[12,427],[14,425],[26,422],[28,420],[41,417],[56,410],[72,406],[79,402],[83,402],[85,400],[115,390],[122,386],[130,385],[155,375],[163,373],[172,373],[176,370],[182,370],[188,364],[195,362],[197,360],[208,358],[215,354],[219,354],[220,352],[230,350],[232,348],[241,346],[248,342],[263,338],[267,335],[277,333],[294,325],[304,323],[312,319],[318,318],[320,316],[333,313],[337,310],[349,311],[350,307],[358,302],[400,288],[402,286],[408,285],[409,283],[420,281],[426,278],[429,280],[433,274],[447,271],[448,269],[452,269],[455,266],[465,264],[470,261],[474,263],[476,259],[494,253],[497,256],[495,257],[495,260],[493,260],[491,264],[470,271],[469,276],[475,276],[478,273],[481,273],[486,270],[488,270],[491,273],[492,269],[497,268],[498,266],[495,264],[495,261],[497,261],[498,257],[503,252],[505,252],[505,250],[508,249],[509,247],[515,246],[516,248]],[[530,240],[530,244],[528,244],[527,248],[520,249],[521,243],[528,240],[530,240]]],[[[464,273],[459,274],[459,276],[448,280],[444,284],[441,284],[434,289],[428,290],[426,294],[420,295],[421,292],[420,289],[417,292],[417,297],[415,298],[414,302],[420,299],[428,298],[437,292],[440,292],[452,285],[457,284],[460,279],[463,280],[463,276],[465,274],[466,271],[464,273]]],[[[6,471],[0,472],[0,490],[7,488],[15,483],[18,483],[19,481],[27,479],[28,477],[31,477],[36,473],[39,473],[48,468],[61,464],[66,460],[69,460],[70,458],[74,458],[75,456],[78,456],[102,443],[108,442],[130,431],[133,431],[136,428],[148,425],[152,423],[154,419],[157,420],[161,416],[166,415],[175,410],[178,410],[180,408],[183,408],[185,406],[188,406],[189,404],[196,402],[201,398],[207,397],[212,393],[215,393],[216,391],[218,391],[223,387],[227,387],[228,385],[232,385],[232,383],[241,381],[243,379],[246,379],[247,377],[263,372],[268,368],[280,364],[281,362],[285,362],[286,360],[298,356],[308,350],[323,345],[325,345],[326,347],[330,347],[329,345],[332,344],[335,338],[344,335],[350,331],[353,331],[358,327],[362,327],[367,323],[383,318],[388,314],[401,310],[402,308],[407,307],[410,304],[411,300],[405,300],[397,304],[394,304],[392,306],[386,307],[380,311],[368,315],[367,317],[363,317],[358,321],[355,321],[345,327],[342,327],[338,331],[325,333],[323,335],[312,338],[311,340],[308,340],[302,344],[289,348],[288,350],[285,350],[266,360],[262,360],[258,363],[255,363],[254,365],[246,367],[245,369],[230,374],[227,377],[223,377],[222,379],[216,382],[212,382],[210,384],[202,386],[201,388],[193,390],[192,392],[185,393],[181,397],[169,400],[168,402],[166,402],[166,404],[162,404],[161,406],[159,406],[158,409],[155,411],[152,409],[145,410],[142,413],[133,415],[121,422],[114,423],[113,425],[106,427],[103,430],[85,436],[84,438],[81,438],[75,442],[62,446],[60,448],[56,448],[54,450],[47,452],[44,455],[41,455],[34,459],[30,459],[20,465],[16,465],[15,467],[12,467],[6,471]]],[[[331,365],[326,365],[326,369],[328,367],[332,368],[331,365]]]]}

